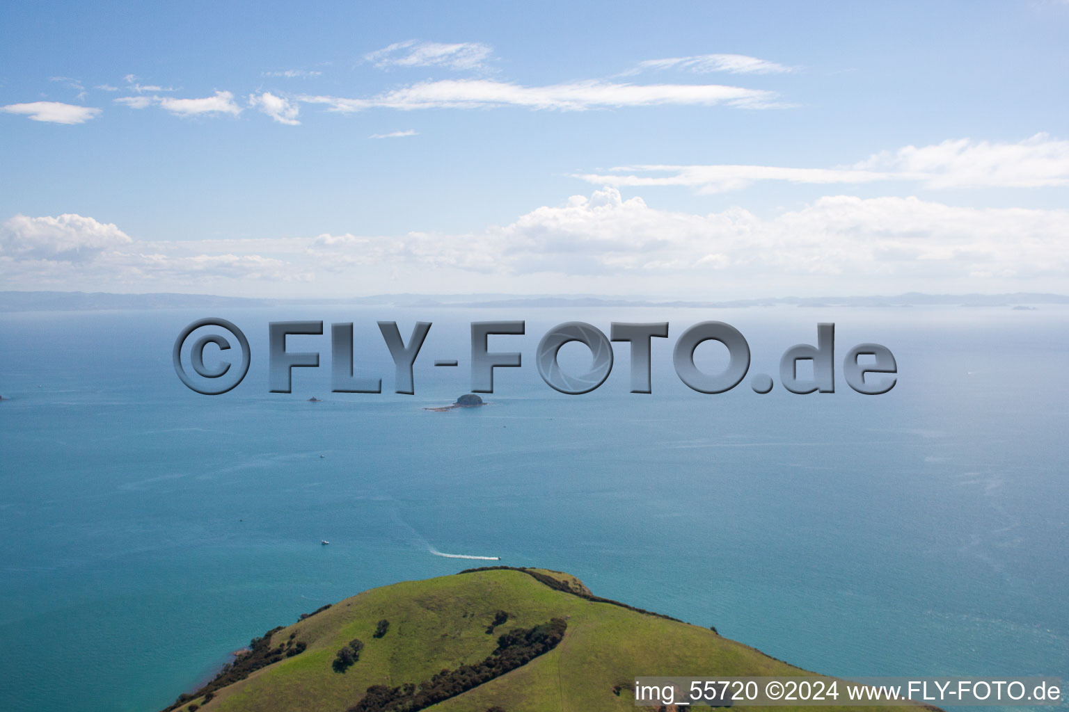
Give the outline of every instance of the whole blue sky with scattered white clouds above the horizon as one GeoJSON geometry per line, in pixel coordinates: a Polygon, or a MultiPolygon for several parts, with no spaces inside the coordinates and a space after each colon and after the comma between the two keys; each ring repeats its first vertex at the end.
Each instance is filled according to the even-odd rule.
{"type": "Polygon", "coordinates": [[[1069,2],[4,3],[0,289],[1069,294],[1069,2]]]}

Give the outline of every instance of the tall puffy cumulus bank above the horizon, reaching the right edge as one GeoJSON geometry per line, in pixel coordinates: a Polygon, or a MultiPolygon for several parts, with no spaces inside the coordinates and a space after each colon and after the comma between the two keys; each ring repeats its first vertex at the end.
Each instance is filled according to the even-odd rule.
{"type": "Polygon", "coordinates": [[[321,235],[310,249],[332,264],[414,262],[511,275],[721,275],[773,283],[815,274],[890,282],[903,276],[1026,280],[1065,279],[1067,230],[1066,210],[836,195],[771,218],[742,208],[694,215],[653,208],[641,197],[624,200],[615,188],[605,188],[479,233],[410,233],[394,239],[321,235]]]}

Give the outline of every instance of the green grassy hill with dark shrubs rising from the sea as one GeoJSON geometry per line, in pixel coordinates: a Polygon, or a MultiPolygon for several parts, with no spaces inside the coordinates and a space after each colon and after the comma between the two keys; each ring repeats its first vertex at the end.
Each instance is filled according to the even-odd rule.
{"type": "Polygon", "coordinates": [[[206,701],[198,693],[171,709],[344,712],[371,685],[418,685],[443,669],[493,660],[500,634],[552,619],[567,623],[556,647],[427,709],[622,712],[635,709],[635,676],[814,675],[709,629],[599,600],[570,574],[494,569],[375,588],[276,629],[230,675],[241,675],[243,662],[263,667],[212,691],[206,701]],[[487,633],[499,612],[508,620],[487,633]],[[385,634],[376,637],[384,620],[385,634]],[[363,644],[359,659],[336,671],[338,652],[354,639],[363,644]]]}

